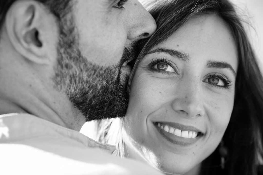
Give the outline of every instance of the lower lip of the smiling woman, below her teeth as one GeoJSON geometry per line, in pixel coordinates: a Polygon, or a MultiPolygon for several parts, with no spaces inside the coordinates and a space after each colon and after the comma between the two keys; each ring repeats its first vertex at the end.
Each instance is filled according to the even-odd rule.
{"type": "Polygon", "coordinates": [[[160,128],[158,128],[158,126],[156,126],[155,124],[153,124],[155,126],[155,129],[159,132],[159,134],[161,136],[163,136],[166,140],[168,140],[169,142],[172,142],[173,144],[177,144],[177,145],[181,145],[181,146],[188,146],[188,145],[192,145],[195,142],[197,142],[199,140],[199,137],[196,138],[184,138],[184,137],[179,137],[177,135],[171,134],[169,132],[166,132],[160,128]]]}

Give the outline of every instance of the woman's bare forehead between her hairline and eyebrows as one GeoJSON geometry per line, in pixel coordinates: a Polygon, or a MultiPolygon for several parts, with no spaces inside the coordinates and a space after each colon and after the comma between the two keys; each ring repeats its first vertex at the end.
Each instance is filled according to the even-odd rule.
{"type": "MultiPolygon", "coordinates": [[[[227,24],[215,14],[194,16],[173,35],[153,47],[166,48],[202,59],[228,62],[237,71],[237,49],[227,24]]],[[[161,52],[159,52],[160,54],[161,52]]]]}

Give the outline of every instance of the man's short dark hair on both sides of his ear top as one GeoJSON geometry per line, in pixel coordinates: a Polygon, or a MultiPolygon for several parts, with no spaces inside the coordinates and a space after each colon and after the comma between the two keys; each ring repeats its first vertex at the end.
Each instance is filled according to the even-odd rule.
{"type": "MultiPolygon", "coordinates": [[[[0,0],[0,31],[5,22],[6,14],[12,4],[17,0],[0,0]]],[[[44,4],[47,9],[56,17],[60,22],[65,15],[71,12],[71,6],[69,6],[71,0],[35,0],[44,4]]]]}

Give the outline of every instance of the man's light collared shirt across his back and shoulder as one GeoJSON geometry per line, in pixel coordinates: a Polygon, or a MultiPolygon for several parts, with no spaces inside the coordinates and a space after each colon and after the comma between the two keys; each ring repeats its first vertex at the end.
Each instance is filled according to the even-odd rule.
{"type": "Polygon", "coordinates": [[[161,174],[115,149],[34,115],[0,115],[0,174],[161,174]]]}

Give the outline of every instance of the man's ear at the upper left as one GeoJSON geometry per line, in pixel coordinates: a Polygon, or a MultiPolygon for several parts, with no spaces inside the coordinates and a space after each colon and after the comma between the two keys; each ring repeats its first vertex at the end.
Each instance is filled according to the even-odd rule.
{"type": "Polygon", "coordinates": [[[43,4],[18,0],[9,8],[6,19],[8,37],[16,51],[37,64],[50,64],[56,58],[57,25],[43,4]]]}

